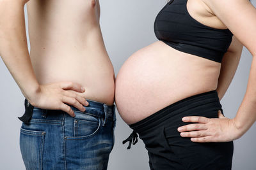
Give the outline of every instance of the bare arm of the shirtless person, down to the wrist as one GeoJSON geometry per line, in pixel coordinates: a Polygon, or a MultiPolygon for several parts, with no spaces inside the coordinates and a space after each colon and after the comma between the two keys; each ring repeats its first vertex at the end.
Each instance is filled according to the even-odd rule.
{"type": "Polygon", "coordinates": [[[22,1],[0,0],[0,55],[28,98],[39,85],[28,52],[24,4],[22,1]]]}

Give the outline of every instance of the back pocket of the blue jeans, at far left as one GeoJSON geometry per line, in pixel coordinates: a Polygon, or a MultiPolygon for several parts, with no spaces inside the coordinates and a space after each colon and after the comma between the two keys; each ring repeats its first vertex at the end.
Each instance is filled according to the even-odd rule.
{"type": "Polygon", "coordinates": [[[27,170],[43,169],[44,131],[31,131],[20,127],[20,152],[27,170]]]}

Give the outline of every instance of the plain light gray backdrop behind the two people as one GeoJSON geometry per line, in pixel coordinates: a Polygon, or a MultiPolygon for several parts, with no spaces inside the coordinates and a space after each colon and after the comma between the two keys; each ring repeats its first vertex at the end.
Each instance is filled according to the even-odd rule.
{"type": "MultiPolygon", "coordinates": [[[[157,40],[154,19],[165,3],[165,0],[100,1],[102,34],[116,74],[132,53],[157,40]]],[[[226,117],[233,118],[243,100],[251,62],[252,55],[244,48],[234,80],[221,100],[226,117]]],[[[24,113],[24,97],[3,60],[0,60],[0,80],[0,169],[25,169],[19,150],[21,122],[17,118],[24,113]]],[[[141,140],[132,145],[131,150],[126,150],[127,143],[122,145],[122,140],[130,133],[131,129],[117,114],[110,170],[149,169],[148,155],[141,140]]],[[[241,139],[234,141],[233,169],[256,169],[255,133],[256,125],[253,125],[241,139]]]]}

